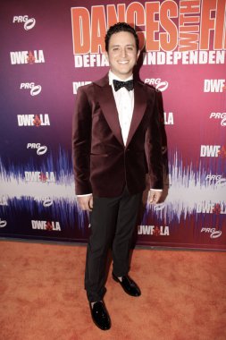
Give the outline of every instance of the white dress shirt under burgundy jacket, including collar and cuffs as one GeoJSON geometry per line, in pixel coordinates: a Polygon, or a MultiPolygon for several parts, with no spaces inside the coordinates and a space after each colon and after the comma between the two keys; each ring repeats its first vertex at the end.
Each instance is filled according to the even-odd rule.
{"type": "MultiPolygon", "coordinates": [[[[130,81],[133,79],[133,75],[131,74],[127,79],[120,79],[117,77],[113,72],[110,70],[108,73],[109,76],[109,85],[112,86],[113,89],[113,98],[115,100],[115,104],[117,107],[118,115],[119,115],[119,122],[121,126],[121,136],[124,145],[126,145],[129,131],[130,131],[130,123],[132,120],[133,108],[134,108],[134,89],[128,90],[126,88],[121,88],[115,91],[113,87],[113,80],[116,81],[130,81]]],[[[161,189],[155,189],[155,191],[162,191],[161,189]]],[[[78,197],[81,196],[88,196],[92,195],[91,193],[87,193],[85,195],[77,195],[78,197]]]]}

